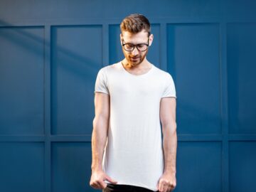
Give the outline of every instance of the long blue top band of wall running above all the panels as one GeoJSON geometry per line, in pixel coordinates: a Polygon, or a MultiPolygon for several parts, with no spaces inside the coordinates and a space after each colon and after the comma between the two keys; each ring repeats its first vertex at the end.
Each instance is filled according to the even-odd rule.
{"type": "MultiPolygon", "coordinates": [[[[1,0],[0,18],[7,22],[15,19],[29,20],[31,18],[36,21],[61,21],[63,19],[78,18],[100,18],[107,20],[108,18],[118,18],[119,23],[120,19],[124,16],[138,12],[148,15],[150,18],[160,18],[159,20],[169,16],[177,19],[180,16],[216,17],[229,13],[233,15],[251,14],[255,16],[255,6],[255,2],[251,0],[237,0],[235,2],[230,0],[161,0],[158,2],[154,0],[45,0],[37,1],[34,4],[31,4],[31,1],[1,0]],[[9,10],[13,11],[12,16],[10,16],[9,10]]],[[[173,21],[176,21],[176,19],[173,21]]]]}

